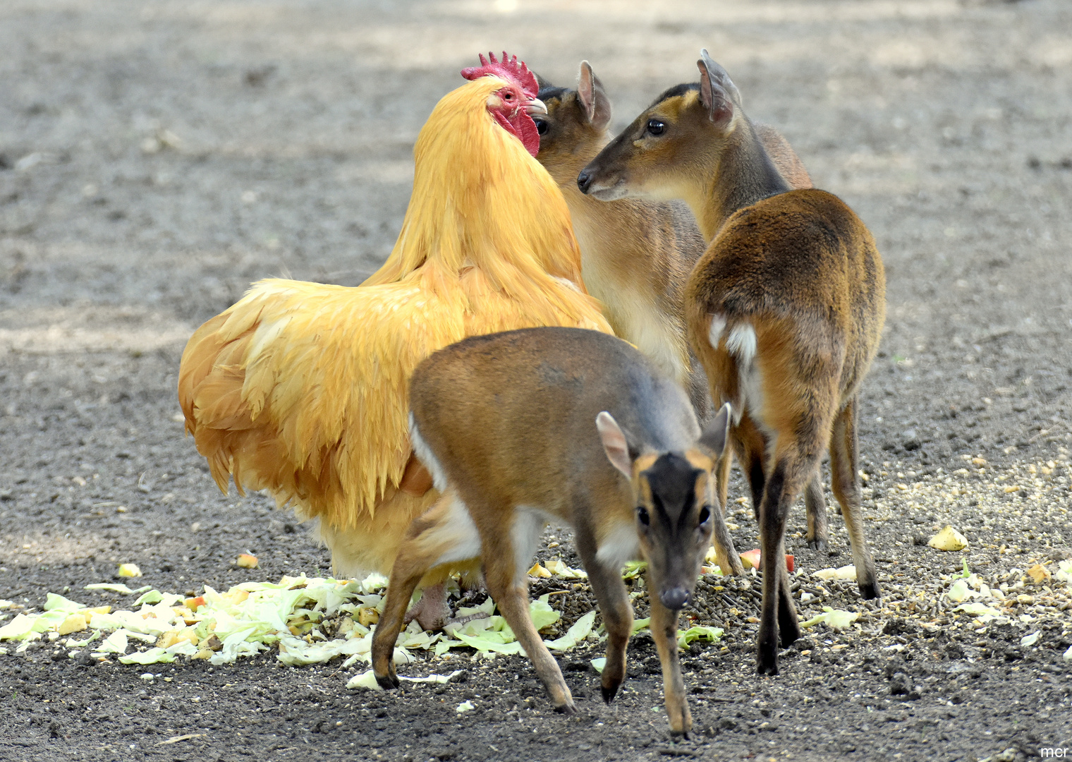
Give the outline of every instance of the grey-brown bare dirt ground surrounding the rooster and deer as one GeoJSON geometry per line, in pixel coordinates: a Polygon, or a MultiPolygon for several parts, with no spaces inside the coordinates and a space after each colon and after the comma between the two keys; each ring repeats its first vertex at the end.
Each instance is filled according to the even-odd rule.
{"type": "MultiPolygon", "coordinates": [[[[691,613],[726,634],[684,657],[689,739],[669,736],[645,636],[609,707],[596,647],[560,659],[580,707],[568,719],[521,657],[456,656],[464,682],[370,693],[344,687],[360,666],[268,653],[145,681],[42,641],[0,656],[0,758],[1072,753],[1069,595],[1025,576],[1072,557],[1070,29],[1067,0],[0,4],[0,599],[17,610],[47,592],[121,602],[83,587],[123,562],[178,593],[328,574],[293,514],[219,493],[177,419],[179,355],[252,280],[353,285],[382,262],[417,131],[477,51],[508,48],[567,85],[590,60],[624,125],[695,79],[708,47],[749,116],[870,226],[889,282],[861,418],[882,603],[812,577],[851,563],[847,536],[832,517],[831,557],[816,557],[798,510],[803,615],[861,617],[809,629],[759,678],[758,585],[705,578],[691,613]],[[946,524],[966,551],[925,544],[946,524]],[[260,568],[235,567],[241,552],[260,568]],[[1007,623],[940,598],[964,561],[1004,585],[1007,623]],[[465,700],[476,708],[457,714],[465,700]],[[162,743],[176,736],[190,737],[162,743]]],[[[750,509],[730,508],[738,548],[756,547],[750,509]]],[[[576,562],[567,549],[540,553],[576,562]]],[[[591,608],[583,589],[559,598],[591,608]]]]}

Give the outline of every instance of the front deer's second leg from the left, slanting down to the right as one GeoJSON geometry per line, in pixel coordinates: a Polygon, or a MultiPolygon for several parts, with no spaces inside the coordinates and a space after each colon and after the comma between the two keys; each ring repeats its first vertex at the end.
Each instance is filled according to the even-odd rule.
{"type": "MultiPolygon", "coordinates": [[[[574,706],[574,697],[562,676],[559,662],[544,645],[544,640],[528,615],[528,578],[522,568],[524,564],[519,565],[519,559],[524,554],[518,554],[511,534],[513,533],[503,533],[504,536],[494,537],[494,544],[485,543],[483,579],[488,585],[488,593],[495,600],[506,624],[513,630],[513,636],[528,655],[536,674],[551,697],[555,711],[574,714],[577,707],[574,706]]],[[[538,534],[536,536],[538,537],[538,534]]],[[[526,550],[528,550],[527,558],[531,561],[532,551],[526,550]]]]}

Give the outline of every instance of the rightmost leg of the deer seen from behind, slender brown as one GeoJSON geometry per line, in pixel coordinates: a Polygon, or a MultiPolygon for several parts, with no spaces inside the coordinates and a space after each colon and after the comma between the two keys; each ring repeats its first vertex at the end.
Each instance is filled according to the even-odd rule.
{"type": "Polygon", "coordinates": [[[860,449],[857,440],[857,399],[853,398],[834,419],[830,440],[830,473],[834,497],[842,504],[842,518],[849,531],[852,563],[857,567],[857,584],[864,598],[879,598],[875,561],[864,537],[863,511],[860,508],[860,474],[857,464],[860,449]]]}

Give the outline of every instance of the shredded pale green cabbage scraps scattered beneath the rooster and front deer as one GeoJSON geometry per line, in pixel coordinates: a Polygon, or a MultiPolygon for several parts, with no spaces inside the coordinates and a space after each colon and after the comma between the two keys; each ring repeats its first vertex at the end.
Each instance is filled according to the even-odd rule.
{"type": "MultiPolygon", "coordinates": [[[[561,561],[551,562],[548,567],[565,579],[584,576],[561,561]]],[[[162,593],[149,586],[131,589],[122,584],[102,583],[87,587],[138,595],[132,610],[88,607],[49,593],[44,611],[18,613],[0,627],[0,640],[20,641],[18,653],[43,637],[57,639],[85,633],[80,639],[68,637],[59,641],[70,657],[88,651],[98,659],[118,657],[122,663],[134,664],[167,663],[179,656],[224,664],[274,646],[279,660],[289,666],[326,662],[341,656],[345,658],[344,666],[349,667],[371,658],[372,628],[383,608],[386,583],[386,578],[379,574],[362,581],[302,574],[283,577],[278,583],[244,582],[226,592],[206,585],[204,594],[194,597],[162,593]]],[[[544,595],[530,604],[537,630],[546,630],[561,618],[549,603],[550,596],[544,595]]],[[[475,617],[448,625],[443,632],[426,632],[412,622],[399,636],[396,663],[414,661],[412,652],[416,649],[442,656],[451,648],[467,646],[486,658],[522,653],[506,619],[494,611],[495,603],[490,598],[477,607],[462,607],[458,610],[460,617],[475,617]]],[[[545,641],[548,648],[562,652],[589,640],[599,640],[599,633],[594,631],[595,619],[595,611],[584,614],[564,634],[545,641]]],[[[638,619],[634,631],[646,626],[647,619],[638,619]]],[[[679,642],[684,647],[697,640],[714,641],[720,636],[719,628],[698,625],[681,632],[679,642]]]]}

